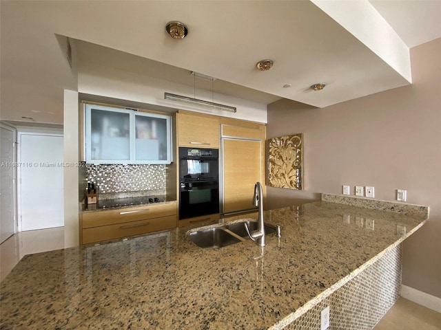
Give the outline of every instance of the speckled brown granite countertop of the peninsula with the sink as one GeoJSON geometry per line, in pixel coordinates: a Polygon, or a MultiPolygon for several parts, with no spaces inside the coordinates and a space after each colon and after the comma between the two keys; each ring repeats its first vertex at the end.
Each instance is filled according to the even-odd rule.
{"type": "Polygon", "coordinates": [[[318,201],[265,211],[282,236],[264,248],[176,228],[28,255],[1,283],[0,329],[281,329],[426,219],[318,201]]]}

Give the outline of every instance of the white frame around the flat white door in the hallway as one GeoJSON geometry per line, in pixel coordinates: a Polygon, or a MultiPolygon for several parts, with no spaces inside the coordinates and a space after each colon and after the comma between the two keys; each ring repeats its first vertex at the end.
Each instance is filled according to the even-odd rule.
{"type": "MultiPolygon", "coordinates": [[[[63,130],[60,129],[30,129],[28,127],[17,128],[17,163],[21,163],[21,135],[50,135],[61,136],[64,139],[63,130]]],[[[17,231],[21,232],[21,168],[17,167],[17,231]]]]}

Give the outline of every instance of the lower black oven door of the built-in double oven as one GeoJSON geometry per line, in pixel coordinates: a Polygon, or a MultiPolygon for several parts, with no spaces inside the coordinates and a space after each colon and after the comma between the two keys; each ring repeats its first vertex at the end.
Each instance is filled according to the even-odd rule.
{"type": "Polygon", "coordinates": [[[181,181],[179,219],[201,217],[219,212],[218,181],[181,181]]]}

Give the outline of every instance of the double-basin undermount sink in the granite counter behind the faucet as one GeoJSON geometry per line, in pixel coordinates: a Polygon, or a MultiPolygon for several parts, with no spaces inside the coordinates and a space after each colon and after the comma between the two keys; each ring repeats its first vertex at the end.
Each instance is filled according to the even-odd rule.
{"type": "MultiPolygon", "coordinates": [[[[240,221],[223,225],[221,227],[207,228],[189,233],[189,239],[201,248],[222,248],[223,246],[239,243],[249,239],[245,223],[249,230],[256,230],[257,222],[240,221]]],[[[272,225],[265,225],[265,233],[272,234],[276,228],[272,225]]]]}

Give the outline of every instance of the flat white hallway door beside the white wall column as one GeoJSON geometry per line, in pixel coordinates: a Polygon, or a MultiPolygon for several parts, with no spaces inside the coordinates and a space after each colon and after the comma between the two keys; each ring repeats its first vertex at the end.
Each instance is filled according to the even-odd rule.
{"type": "Polygon", "coordinates": [[[19,148],[21,230],[63,226],[63,136],[21,133],[19,148]]]}

